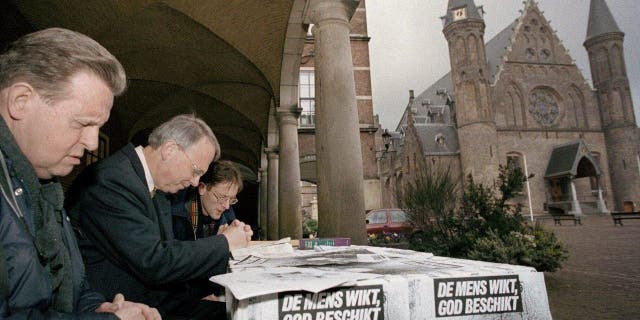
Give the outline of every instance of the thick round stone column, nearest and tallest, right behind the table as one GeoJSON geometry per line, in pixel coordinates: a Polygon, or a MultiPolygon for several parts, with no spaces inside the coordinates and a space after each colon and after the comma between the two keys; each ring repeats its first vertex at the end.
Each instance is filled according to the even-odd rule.
{"type": "Polygon", "coordinates": [[[316,76],[318,224],[321,237],[366,244],[362,150],[349,38],[357,1],[311,1],[316,76]]]}

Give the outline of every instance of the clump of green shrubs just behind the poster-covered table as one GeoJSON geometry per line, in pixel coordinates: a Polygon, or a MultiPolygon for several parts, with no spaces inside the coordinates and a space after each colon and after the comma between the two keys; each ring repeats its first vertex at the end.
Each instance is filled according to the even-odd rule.
{"type": "Polygon", "coordinates": [[[526,265],[538,271],[561,267],[567,251],[553,232],[528,226],[521,215],[521,206],[508,204],[526,181],[519,168],[500,167],[499,195],[475,183],[471,176],[459,195],[454,180],[449,170],[426,169],[414,182],[401,188],[398,203],[406,208],[409,220],[418,230],[410,238],[411,249],[526,265]],[[456,203],[460,204],[457,209],[456,203]]]}

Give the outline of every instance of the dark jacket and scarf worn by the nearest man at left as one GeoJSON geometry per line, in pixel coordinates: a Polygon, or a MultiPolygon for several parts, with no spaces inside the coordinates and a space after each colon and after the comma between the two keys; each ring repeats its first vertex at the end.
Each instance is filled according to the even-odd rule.
{"type": "Polygon", "coordinates": [[[62,209],[62,187],[39,181],[0,118],[0,244],[9,296],[1,319],[117,319],[96,313],[76,239],[62,209]]]}

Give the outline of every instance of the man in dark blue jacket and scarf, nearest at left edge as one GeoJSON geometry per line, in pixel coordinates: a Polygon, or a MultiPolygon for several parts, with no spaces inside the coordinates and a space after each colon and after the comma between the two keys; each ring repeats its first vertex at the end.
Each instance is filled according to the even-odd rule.
{"type": "Polygon", "coordinates": [[[91,292],[57,177],[98,146],[126,87],[120,63],[85,35],[26,35],[0,55],[1,319],[157,319],[91,292]]]}

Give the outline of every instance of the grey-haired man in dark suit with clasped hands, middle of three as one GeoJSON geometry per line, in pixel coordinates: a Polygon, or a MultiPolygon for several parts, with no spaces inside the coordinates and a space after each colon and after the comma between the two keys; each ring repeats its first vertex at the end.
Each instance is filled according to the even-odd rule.
{"type": "Polygon", "coordinates": [[[224,317],[224,304],[192,296],[186,282],[226,272],[229,251],[248,245],[251,228],[235,221],[219,235],[174,239],[167,194],[197,186],[220,157],[209,128],[179,115],[149,136],[85,170],[68,202],[91,285],[157,307],[167,319],[224,317]],[[156,192],[157,191],[157,192],[156,192]]]}

